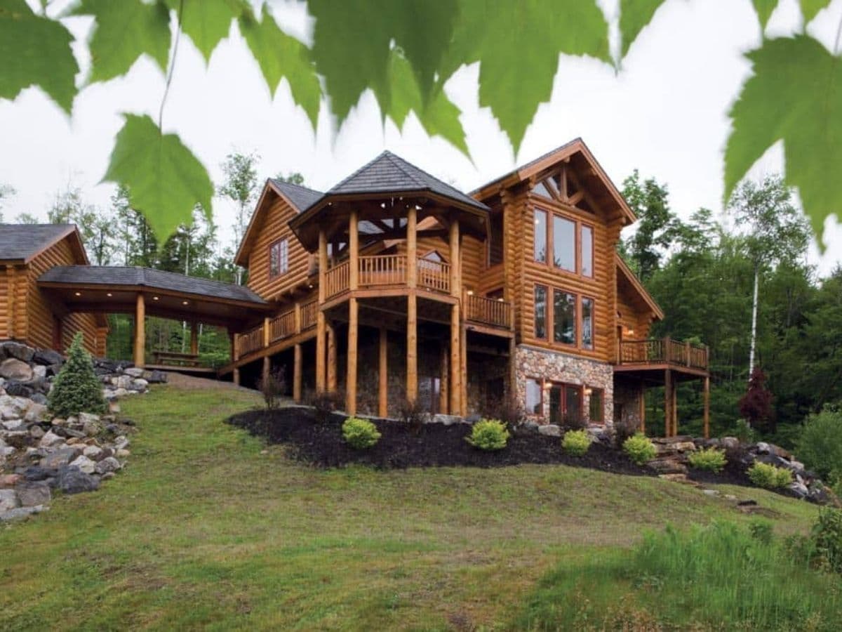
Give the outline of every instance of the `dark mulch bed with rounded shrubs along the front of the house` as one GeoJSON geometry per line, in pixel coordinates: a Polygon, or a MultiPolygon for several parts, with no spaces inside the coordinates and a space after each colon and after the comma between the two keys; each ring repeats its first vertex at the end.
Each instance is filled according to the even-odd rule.
{"type": "Polygon", "coordinates": [[[466,424],[426,424],[415,435],[400,422],[375,420],[382,434],[380,441],[367,450],[355,450],[344,442],[342,420],[332,415],[327,423],[320,424],[310,409],[285,408],[249,410],[233,415],[228,423],[265,437],[269,443],[289,444],[296,458],[323,468],[349,463],[364,463],[379,469],[562,463],[615,474],[654,475],[652,470],[635,465],[625,454],[601,443],[594,442],[583,457],[571,457],[562,451],[558,437],[544,437],[532,431],[513,433],[503,450],[484,452],[465,441],[471,431],[471,426],[466,424]]]}

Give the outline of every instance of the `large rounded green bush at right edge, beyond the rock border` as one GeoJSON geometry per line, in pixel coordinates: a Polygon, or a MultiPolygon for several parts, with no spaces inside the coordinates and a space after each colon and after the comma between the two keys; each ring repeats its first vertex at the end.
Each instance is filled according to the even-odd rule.
{"type": "Polygon", "coordinates": [[[796,456],[829,485],[840,482],[842,474],[842,410],[826,405],[810,415],[796,442],[796,456]]]}

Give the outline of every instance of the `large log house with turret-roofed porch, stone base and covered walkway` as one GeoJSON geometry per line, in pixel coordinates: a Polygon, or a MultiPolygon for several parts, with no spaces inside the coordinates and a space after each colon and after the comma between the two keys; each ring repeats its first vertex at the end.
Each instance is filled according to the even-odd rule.
{"type": "Polygon", "coordinates": [[[219,377],[283,367],[296,400],[341,391],[351,415],[404,399],[482,414],[511,394],[541,422],[645,427],[643,393],[663,386],[674,436],[676,384],[696,380],[707,433],[706,347],[649,339],[663,313],[616,253],[635,219],[581,139],[470,195],[384,152],[324,193],[269,179],[235,258],[247,287],[78,257],[27,278],[53,307],[52,342],[56,319],[135,313],[144,366],[145,314],[220,324],[219,377]]]}

